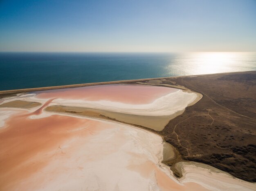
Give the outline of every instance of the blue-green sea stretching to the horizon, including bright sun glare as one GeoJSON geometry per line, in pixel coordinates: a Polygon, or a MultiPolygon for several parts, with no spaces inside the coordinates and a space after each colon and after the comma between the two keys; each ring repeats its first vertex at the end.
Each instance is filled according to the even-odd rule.
{"type": "Polygon", "coordinates": [[[0,53],[0,90],[256,70],[255,52],[0,53]]]}

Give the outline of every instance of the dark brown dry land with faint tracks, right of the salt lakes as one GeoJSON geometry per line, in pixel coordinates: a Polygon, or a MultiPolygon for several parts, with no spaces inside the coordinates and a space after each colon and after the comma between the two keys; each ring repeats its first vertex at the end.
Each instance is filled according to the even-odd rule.
{"type": "Polygon", "coordinates": [[[184,86],[203,95],[158,132],[182,159],[256,182],[256,71],[166,78],[157,83],[184,86]]]}

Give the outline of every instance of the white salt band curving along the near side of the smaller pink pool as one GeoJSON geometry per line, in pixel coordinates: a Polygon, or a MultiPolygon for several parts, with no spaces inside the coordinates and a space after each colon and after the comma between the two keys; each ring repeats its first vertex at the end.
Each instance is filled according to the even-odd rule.
{"type": "MultiPolygon", "coordinates": [[[[147,116],[167,116],[175,114],[178,111],[184,110],[190,103],[195,101],[198,95],[191,92],[184,92],[178,90],[167,94],[164,97],[160,97],[149,104],[126,104],[114,101],[84,101],[75,99],[54,99],[50,105],[64,105],[64,106],[75,106],[94,108],[100,110],[107,110],[112,112],[121,112],[125,114],[135,115],[147,115],[147,116]]],[[[23,97],[18,97],[17,100],[22,101],[36,101],[44,103],[46,99],[38,99],[35,94],[30,94],[23,97]]],[[[7,101],[3,101],[6,103],[7,101]]]]}

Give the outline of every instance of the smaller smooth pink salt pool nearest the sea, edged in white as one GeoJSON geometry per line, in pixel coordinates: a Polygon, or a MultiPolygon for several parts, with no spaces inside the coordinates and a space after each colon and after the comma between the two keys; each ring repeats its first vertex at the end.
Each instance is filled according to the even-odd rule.
{"type": "Polygon", "coordinates": [[[148,104],[178,89],[143,85],[99,85],[36,92],[37,98],[80,99],[84,101],[115,101],[127,104],[148,104]]]}

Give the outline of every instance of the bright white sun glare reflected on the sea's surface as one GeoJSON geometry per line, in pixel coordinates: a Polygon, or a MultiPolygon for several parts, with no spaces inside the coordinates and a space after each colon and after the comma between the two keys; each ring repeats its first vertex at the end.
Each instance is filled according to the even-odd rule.
{"type": "Polygon", "coordinates": [[[177,75],[200,75],[220,72],[245,71],[250,68],[249,53],[193,52],[180,54],[170,61],[168,70],[177,75]],[[247,63],[244,63],[247,60],[247,63]]]}

